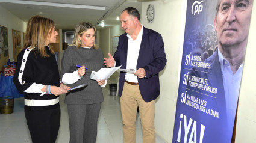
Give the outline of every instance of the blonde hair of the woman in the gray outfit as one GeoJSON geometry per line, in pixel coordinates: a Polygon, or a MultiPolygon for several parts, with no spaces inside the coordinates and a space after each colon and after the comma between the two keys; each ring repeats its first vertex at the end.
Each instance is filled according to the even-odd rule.
{"type": "MultiPolygon", "coordinates": [[[[90,22],[80,22],[78,25],[75,26],[75,31],[73,32],[74,38],[72,41],[72,44],[69,44],[69,46],[76,46],[76,49],[78,49],[82,43],[80,39],[78,38],[78,35],[82,36],[84,32],[86,32],[88,29],[93,29],[94,32],[96,32],[95,26],[92,25],[90,22]]],[[[95,44],[92,46],[94,49],[97,49],[95,44]]]]}

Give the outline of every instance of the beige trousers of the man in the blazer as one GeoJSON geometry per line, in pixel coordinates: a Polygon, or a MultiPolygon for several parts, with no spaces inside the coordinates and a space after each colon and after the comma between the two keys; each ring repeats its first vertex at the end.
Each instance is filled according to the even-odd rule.
{"type": "Polygon", "coordinates": [[[135,122],[137,106],[139,106],[143,142],[155,143],[155,100],[145,102],[140,94],[139,85],[130,85],[125,82],[120,103],[123,120],[123,142],[135,143],[136,141],[135,122]]]}

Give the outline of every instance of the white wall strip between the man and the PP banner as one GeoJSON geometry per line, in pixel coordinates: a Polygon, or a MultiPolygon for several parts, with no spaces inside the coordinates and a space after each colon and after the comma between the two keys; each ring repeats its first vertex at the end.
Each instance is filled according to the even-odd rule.
{"type": "Polygon", "coordinates": [[[181,34],[181,0],[142,2],[142,25],[159,32],[164,40],[167,64],[160,72],[160,96],[155,105],[155,132],[167,142],[172,142],[178,94],[178,73],[181,34]],[[155,19],[146,20],[148,4],[154,5],[155,19]]]}

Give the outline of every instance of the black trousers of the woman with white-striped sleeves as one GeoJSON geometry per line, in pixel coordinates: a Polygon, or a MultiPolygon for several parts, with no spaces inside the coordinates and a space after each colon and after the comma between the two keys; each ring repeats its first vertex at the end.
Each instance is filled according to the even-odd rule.
{"type": "Polygon", "coordinates": [[[25,117],[33,143],[54,143],[60,128],[60,106],[56,109],[28,111],[25,117]]]}

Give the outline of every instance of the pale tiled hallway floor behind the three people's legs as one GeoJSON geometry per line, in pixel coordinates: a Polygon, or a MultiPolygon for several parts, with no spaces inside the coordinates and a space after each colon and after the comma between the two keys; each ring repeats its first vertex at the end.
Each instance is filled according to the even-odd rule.
{"type": "MultiPolygon", "coordinates": [[[[121,143],[123,142],[122,117],[120,111],[119,96],[110,96],[108,88],[103,88],[104,102],[98,120],[97,143],[121,143]]],[[[14,112],[12,114],[0,114],[0,142],[1,143],[31,143],[25,115],[23,112],[23,98],[14,100],[14,112]]],[[[64,103],[64,95],[60,96],[61,123],[57,142],[69,142],[69,117],[67,106],[64,103]]],[[[136,142],[142,143],[142,127],[140,117],[137,114],[136,142]]],[[[165,143],[156,135],[157,143],[165,143]]]]}

